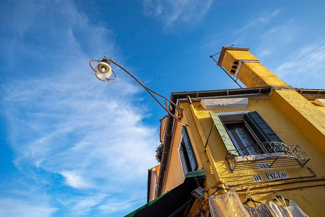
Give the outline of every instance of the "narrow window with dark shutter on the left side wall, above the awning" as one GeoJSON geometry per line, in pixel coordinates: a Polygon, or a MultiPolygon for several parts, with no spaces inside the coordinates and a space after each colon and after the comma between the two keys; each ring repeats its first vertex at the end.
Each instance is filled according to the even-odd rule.
{"type": "Polygon", "coordinates": [[[188,172],[195,171],[198,168],[198,162],[196,161],[188,132],[184,126],[179,141],[178,154],[184,177],[188,172]]]}

